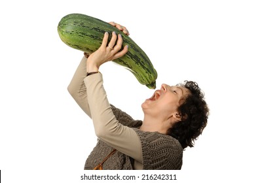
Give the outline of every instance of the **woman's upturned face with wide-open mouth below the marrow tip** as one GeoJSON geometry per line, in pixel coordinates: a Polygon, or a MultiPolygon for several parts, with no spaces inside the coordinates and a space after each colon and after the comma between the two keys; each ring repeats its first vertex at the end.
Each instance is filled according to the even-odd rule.
{"type": "Polygon", "coordinates": [[[156,90],[152,97],[146,99],[141,105],[144,114],[153,116],[163,116],[170,118],[170,115],[177,112],[179,105],[185,101],[189,95],[189,89],[182,86],[169,86],[162,84],[160,90],[156,90]]]}

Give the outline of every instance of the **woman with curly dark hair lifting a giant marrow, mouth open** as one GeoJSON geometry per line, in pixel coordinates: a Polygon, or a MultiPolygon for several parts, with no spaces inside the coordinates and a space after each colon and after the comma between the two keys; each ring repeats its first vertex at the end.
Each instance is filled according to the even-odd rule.
{"type": "MultiPolygon", "coordinates": [[[[111,24],[129,35],[125,27],[111,24]]],[[[207,124],[204,95],[194,82],[162,84],[141,105],[143,122],[133,120],[109,104],[103,88],[100,66],[128,52],[128,46],[120,50],[121,35],[113,32],[107,43],[108,37],[105,33],[100,48],[82,58],[68,86],[69,93],[92,118],[99,139],[84,169],[181,169],[183,150],[193,146],[207,124]]]]}

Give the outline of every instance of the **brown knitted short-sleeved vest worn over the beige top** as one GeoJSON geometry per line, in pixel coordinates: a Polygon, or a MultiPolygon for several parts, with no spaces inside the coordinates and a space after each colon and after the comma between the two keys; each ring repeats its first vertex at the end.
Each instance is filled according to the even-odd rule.
{"type": "MultiPolygon", "coordinates": [[[[132,127],[141,140],[143,169],[145,170],[177,170],[181,169],[183,148],[179,141],[170,135],[158,132],[147,132],[138,129],[142,122],[133,120],[131,116],[111,105],[113,113],[120,124],[132,127]]],[[[86,159],[84,170],[92,170],[113,150],[105,142],[98,140],[91,154],[86,159]]],[[[132,170],[133,159],[117,151],[103,163],[103,170],[132,170]]]]}

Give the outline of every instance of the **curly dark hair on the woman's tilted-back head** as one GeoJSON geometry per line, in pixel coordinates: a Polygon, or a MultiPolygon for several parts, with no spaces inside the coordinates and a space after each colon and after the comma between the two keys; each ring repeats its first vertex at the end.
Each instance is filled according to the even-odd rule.
{"type": "Polygon", "coordinates": [[[202,134],[207,125],[210,110],[204,100],[204,93],[196,82],[186,80],[178,85],[189,89],[190,94],[178,108],[183,116],[181,122],[175,123],[168,129],[167,134],[177,139],[185,149],[187,146],[193,147],[194,141],[202,134]]]}

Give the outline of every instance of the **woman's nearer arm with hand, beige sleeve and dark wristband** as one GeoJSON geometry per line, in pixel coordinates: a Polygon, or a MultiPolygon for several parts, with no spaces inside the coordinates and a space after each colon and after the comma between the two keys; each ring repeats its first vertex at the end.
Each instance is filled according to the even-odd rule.
{"type": "MultiPolygon", "coordinates": [[[[124,46],[124,49],[119,52],[122,45],[122,37],[120,35],[117,36],[113,33],[109,46],[107,46],[107,39],[108,34],[105,33],[100,48],[88,57],[86,62],[88,73],[97,72],[100,65],[106,61],[120,58],[128,52],[128,46],[124,46]],[[115,44],[116,41],[117,44],[115,44]]],[[[120,124],[115,118],[103,88],[101,73],[86,76],[84,84],[87,88],[88,105],[98,138],[120,152],[136,159],[136,161],[142,162],[139,137],[134,129],[120,124]]]]}

